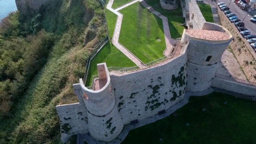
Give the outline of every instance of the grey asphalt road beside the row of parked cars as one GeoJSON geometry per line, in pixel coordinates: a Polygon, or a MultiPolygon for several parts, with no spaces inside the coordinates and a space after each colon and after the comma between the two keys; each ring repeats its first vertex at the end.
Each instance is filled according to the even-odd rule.
{"type": "MultiPolygon", "coordinates": [[[[228,5],[230,3],[230,0],[219,0],[220,2],[225,3],[226,5],[228,5]]],[[[220,3],[217,2],[217,3],[220,3]]],[[[228,6],[230,8],[230,11],[234,14],[236,14],[236,16],[238,17],[238,19],[243,20],[244,17],[244,26],[251,32],[251,34],[256,35],[256,23],[250,21],[250,19],[252,18],[251,15],[249,15],[247,13],[247,11],[241,10],[235,3],[233,3],[231,1],[230,5],[228,6]],[[248,16],[249,15],[249,16],[248,16]]]]}

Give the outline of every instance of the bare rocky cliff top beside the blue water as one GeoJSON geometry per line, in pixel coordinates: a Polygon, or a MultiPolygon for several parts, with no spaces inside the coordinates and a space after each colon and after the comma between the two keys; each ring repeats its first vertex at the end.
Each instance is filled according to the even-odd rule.
{"type": "Polygon", "coordinates": [[[15,0],[17,9],[24,15],[33,15],[39,11],[42,5],[52,0],[15,0]]]}

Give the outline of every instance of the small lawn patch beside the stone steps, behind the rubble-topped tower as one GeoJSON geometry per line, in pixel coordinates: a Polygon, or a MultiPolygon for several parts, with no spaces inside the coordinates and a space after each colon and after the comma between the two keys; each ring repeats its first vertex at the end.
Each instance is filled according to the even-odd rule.
{"type": "Polygon", "coordinates": [[[205,21],[214,22],[213,17],[212,17],[211,5],[210,4],[200,4],[200,3],[197,3],[197,4],[204,16],[205,21]]]}

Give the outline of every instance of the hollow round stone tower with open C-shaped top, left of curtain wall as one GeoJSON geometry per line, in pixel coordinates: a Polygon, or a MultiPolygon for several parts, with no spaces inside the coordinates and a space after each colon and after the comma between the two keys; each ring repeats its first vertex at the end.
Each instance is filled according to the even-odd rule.
{"type": "Polygon", "coordinates": [[[92,90],[87,89],[80,79],[89,133],[96,140],[111,141],[119,135],[124,124],[117,110],[106,63],[97,64],[97,67],[99,79],[94,79],[92,90]]]}

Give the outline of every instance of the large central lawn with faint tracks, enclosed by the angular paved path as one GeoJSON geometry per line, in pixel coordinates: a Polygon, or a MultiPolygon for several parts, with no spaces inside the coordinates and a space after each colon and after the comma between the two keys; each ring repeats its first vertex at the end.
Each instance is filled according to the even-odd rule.
{"type": "Polygon", "coordinates": [[[163,21],[137,2],[120,10],[124,15],[119,37],[124,45],[142,62],[163,57],[166,48],[163,21]],[[161,39],[161,42],[156,41],[161,39]]]}

